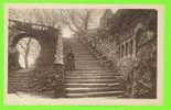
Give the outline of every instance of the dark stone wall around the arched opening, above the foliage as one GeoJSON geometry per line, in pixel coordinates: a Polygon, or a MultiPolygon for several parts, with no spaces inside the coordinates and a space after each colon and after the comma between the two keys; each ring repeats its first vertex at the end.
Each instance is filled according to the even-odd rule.
{"type": "MultiPolygon", "coordinates": [[[[21,38],[24,37],[32,37],[35,38],[40,45],[41,45],[41,53],[35,62],[35,68],[36,67],[44,67],[52,65],[55,59],[56,54],[56,44],[57,44],[57,35],[58,31],[54,29],[47,29],[47,30],[22,30],[18,29],[15,26],[19,25],[10,25],[9,26],[9,59],[11,58],[11,55],[13,56],[13,51],[17,50],[17,44],[21,38]]],[[[17,52],[15,52],[17,53],[17,52]]],[[[19,53],[19,52],[18,52],[19,53]]],[[[18,59],[19,55],[14,57],[15,63],[19,64],[18,59]]],[[[11,63],[12,64],[12,63],[11,63]]],[[[11,67],[10,67],[11,68],[11,67]]]]}

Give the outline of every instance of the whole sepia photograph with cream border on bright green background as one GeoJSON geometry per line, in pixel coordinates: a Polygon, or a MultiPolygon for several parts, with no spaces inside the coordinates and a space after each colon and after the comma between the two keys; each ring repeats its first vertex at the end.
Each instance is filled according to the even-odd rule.
{"type": "Polygon", "coordinates": [[[7,105],[161,105],[162,7],[9,4],[7,105]]]}

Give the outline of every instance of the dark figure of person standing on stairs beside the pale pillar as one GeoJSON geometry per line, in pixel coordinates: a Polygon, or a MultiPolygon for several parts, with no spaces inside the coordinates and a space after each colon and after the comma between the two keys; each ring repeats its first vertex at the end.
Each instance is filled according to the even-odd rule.
{"type": "Polygon", "coordinates": [[[66,69],[67,70],[74,70],[75,69],[75,56],[74,56],[74,53],[72,50],[66,55],[66,69]]]}

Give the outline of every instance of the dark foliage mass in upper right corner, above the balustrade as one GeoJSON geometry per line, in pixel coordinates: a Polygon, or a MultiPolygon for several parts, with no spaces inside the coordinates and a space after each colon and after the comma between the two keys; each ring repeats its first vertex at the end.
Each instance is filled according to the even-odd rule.
{"type": "Polygon", "coordinates": [[[153,9],[120,9],[113,16],[110,32],[113,34],[122,34],[122,32],[133,29],[139,22],[150,25],[152,30],[156,30],[157,11],[153,9]]]}

